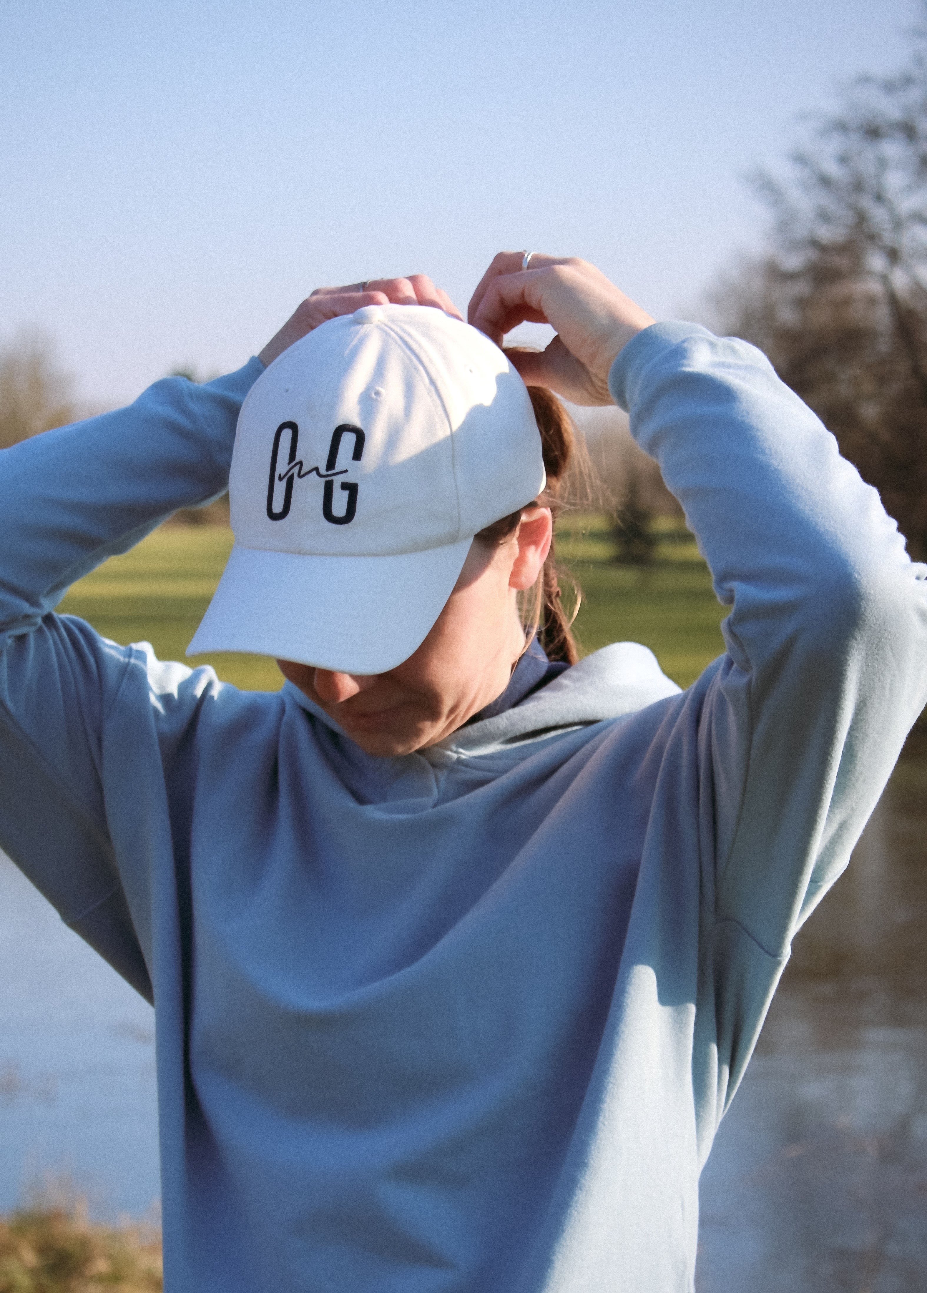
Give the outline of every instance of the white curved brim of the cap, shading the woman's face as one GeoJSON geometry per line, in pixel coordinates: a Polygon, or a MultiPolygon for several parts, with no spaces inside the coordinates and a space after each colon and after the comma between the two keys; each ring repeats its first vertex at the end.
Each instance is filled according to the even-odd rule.
{"type": "Polygon", "coordinates": [[[251,652],[345,674],[384,674],[428,636],[471,543],[362,557],[235,543],[186,654],[251,652]]]}

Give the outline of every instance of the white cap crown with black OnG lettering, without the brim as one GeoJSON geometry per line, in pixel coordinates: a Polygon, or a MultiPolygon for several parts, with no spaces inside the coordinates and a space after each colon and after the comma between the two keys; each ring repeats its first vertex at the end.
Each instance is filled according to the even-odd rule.
{"type": "Polygon", "coordinates": [[[544,487],[525,385],[441,310],[371,305],[275,359],[238,418],[238,543],[384,556],[465,539],[544,487]]]}

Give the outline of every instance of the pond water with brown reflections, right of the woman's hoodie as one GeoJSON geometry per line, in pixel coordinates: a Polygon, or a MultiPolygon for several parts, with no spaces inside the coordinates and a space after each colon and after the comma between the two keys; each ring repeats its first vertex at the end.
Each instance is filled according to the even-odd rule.
{"type": "Polygon", "coordinates": [[[927,762],[795,940],[702,1174],[699,1293],[927,1289],[927,762]]]}

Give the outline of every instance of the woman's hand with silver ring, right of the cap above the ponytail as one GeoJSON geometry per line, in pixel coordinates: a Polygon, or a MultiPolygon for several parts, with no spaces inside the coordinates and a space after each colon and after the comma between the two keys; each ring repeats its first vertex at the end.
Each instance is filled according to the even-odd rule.
{"type": "Polygon", "coordinates": [[[529,269],[521,262],[520,251],[499,252],[473,292],[469,322],[496,345],[518,323],[549,323],[557,335],[546,350],[507,352],[525,383],[573,403],[613,403],[612,363],[654,319],[584,260],[535,252],[529,269]]]}

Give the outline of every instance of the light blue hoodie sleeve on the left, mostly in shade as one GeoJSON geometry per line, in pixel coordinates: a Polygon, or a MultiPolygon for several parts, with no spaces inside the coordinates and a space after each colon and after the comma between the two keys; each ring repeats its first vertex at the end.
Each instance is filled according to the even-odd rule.
{"type": "MultiPolygon", "coordinates": [[[[52,612],[106,557],[225,490],[238,410],[261,372],[251,359],[207,385],[159,381],[127,409],[0,453],[0,847],[69,922],[123,903],[101,733],[132,648],[52,612]]],[[[110,959],[145,992],[128,913],[114,921],[127,928],[110,959]]]]}

